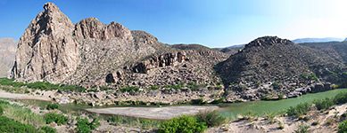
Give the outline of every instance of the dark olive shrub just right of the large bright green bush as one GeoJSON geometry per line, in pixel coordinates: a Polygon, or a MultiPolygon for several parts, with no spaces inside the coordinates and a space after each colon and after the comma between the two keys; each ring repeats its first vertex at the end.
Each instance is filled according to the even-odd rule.
{"type": "Polygon", "coordinates": [[[209,128],[220,126],[227,121],[227,118],[223,115],[220,115],[218,111],[198,113],[195,115],[195,118],[198,122],[206,123],[206,126],[209,128]]]}

